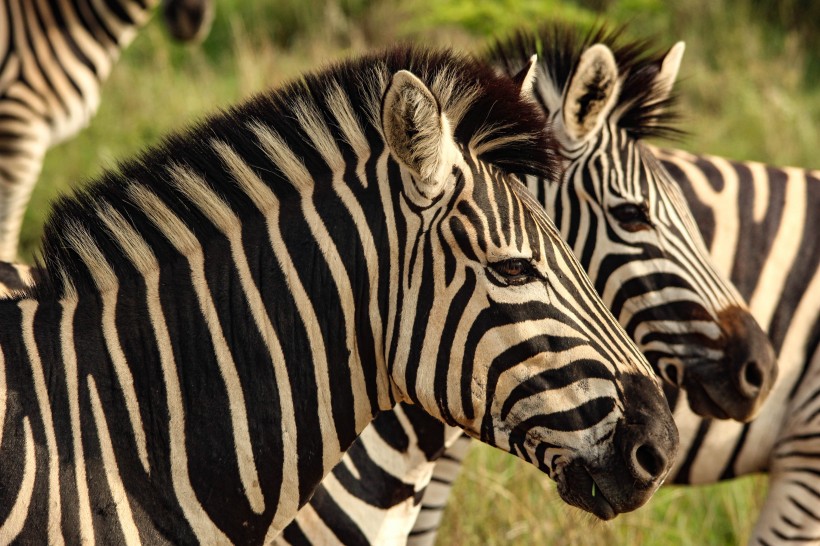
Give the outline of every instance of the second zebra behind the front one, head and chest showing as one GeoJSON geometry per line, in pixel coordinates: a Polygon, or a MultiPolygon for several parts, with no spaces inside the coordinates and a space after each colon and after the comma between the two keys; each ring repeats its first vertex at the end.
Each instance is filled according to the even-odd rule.
{"type": "MultiPolygon", "coordinates": [[[[687,387],[691,409],[714,417],[727,417],[732,411],[733,417],[750,419],[774,383],[772,348],[748,315],[742,298],[723,280],[725,273],[713,269],[680,188],[641,141],[646,136],[672,133],[668,127],[674,119],[671,93],[683,44],[664,54],[650,54],[650,44],[625,42],[622,30],[600,28],[582,36],[571,27],[546,26],[537,35],[522,33],[498,44],[490,57],[521,81],[527,72],[518,72],[519,68],[538,44],[541,70],[534,99],[550,115],[568,166],[560,184],[529,177],[530,190],[555,219],[604,302],[655,364],[656,372],[669,384],[687,387]],[[588,67],[586,73],[584,66],[588,67]],[[595,104],[590,97],[609,104],[595,104]],[[579,123],[566,119],[567,113],[585,110],[597,112],[601,119],[579,123]],[[584,127],[589,134],[570,134],[584,127]],[[649,231],[659,232],[661,240],[655,246],[646,236],[649,231]],[[661,259],[666,262],[658,265],[661,259]],[[698,278],[700,275],[703,278],[698,278]],[[704,286],[711,286],[717,295],[704,286]],[[722,298],[736,306],[735,310],[709,308],[709,302],[722,298]],[[669,339],[667,345],[684,354],[698,351],[698,345],[717,349],[715,336],[697,330],[708,326],[700,324],[703,316],[723,317],[729,325],[722,328],[734,334],[726,337],[737,344],[737,348],[726,344],[728,362],[715,358],[721,366],[700,363],[711,368],[708,373],[712,375],[697,365],[684,367],[684,362],[675,362],[676,358],[686,360],[680,354],[658,350],[663,346],[659,341],[665,341],[670,333],[679,338],[669,339]],[[690,317],[695,319],[691,326],[690,317]],[[755,396],[742,396],[744,381],[751,383],[747,387],[760,389],[751,391],[755,396]],[[711,394],[709,389],[716,387],[711,394]],[[713,400],[725,405],[717,407],[713,400]]],[[[677,400],[676,389],[668,389],[668,393],[670,399],[677,400]]],[[[396,411],[404,414],[412,410],[399,407],[396,411]]],[[[411,544],[431,544],[468,445],[457,431],[421,432],[431,426],[423,416],[379,415],[374,423],[376,432],[362,436],[362,446],[349,451],[346,460],[322,483],[316,500],[292,524],[297,528],[293,536],[308,537],[314,544],[336,539],[345,544],[399,544],[408,536],[411,544]],[[436,464],[443,454],[446,462],[436,464]],[[398,472],[402,465],[410,470],[398,472]],[[385,473],[373,470],[379,466],[396,478],[379,482],[374,476],[385,473]],[[353,473],[350,468],[359,471],[353,473]],[[397,481],[403,483],[400,488],[394,487],[397,481]],[[425,490],[428,483],[431,486],[425,490]],[[357,494],[363,490],[369,492],[367,497],[357,494]],[[384,534],[388,534],[387,539],[384,534]]],[[[287,534],[280,542],[286,542],[287,534]]]]}

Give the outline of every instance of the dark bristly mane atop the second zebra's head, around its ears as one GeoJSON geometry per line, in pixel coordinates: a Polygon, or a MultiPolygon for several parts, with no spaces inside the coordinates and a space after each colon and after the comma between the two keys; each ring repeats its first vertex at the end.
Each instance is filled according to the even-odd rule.
{"type": "MultiPolygon", "coordinates": [[[[552,87],[556,97],[575,73],[581,54],[601,43],[615,56],[621,74],[621,91],[613,108],[618,126],[634,138],[664,137],[677,139],[684,132],[675,127],[680,115],[678,97],[653,85],[667,50],[659,49],[654,40],[627,40],[626,27],[598,25],[591,29],[562,22],[540,26],[535,32],[520,30],[506,40],[496,40],[484,57],[508,74],[516,74],[533,53],[538,53],[538,87],[552,87]]],[[[544,105],[547,107],[548,105],[544,105]]]]}

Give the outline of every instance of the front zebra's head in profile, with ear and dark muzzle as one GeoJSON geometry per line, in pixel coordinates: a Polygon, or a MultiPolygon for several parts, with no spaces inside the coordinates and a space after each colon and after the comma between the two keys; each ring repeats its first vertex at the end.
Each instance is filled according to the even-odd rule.
{"type": "Polygon", "coordinates": [[[651,496],[677,431],[649,364],[515,165],[493,157],[506,149],[526,170],[550,142],[532,129],[544,120],[528,100],[511,108],[456,81],[428,87],[401,71],[382,101],[386,168],[401,180],[386,349],[396,398],[536,465],[565,501],[609,519],[651,496]],[[442,105],[455,89],[474,94],[464,108],[442,105]],[[476,122],[489,132],[464,130],[476,122]]]}

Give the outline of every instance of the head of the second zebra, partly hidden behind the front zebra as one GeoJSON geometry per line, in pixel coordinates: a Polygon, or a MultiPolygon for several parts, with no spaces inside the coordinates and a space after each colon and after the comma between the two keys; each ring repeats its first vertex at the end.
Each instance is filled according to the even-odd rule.
{"type": "Polygon", "coordinates": [[[774,383],[774,351],[712,265],[680,188],[642,143],[675,133],[666,123],[683,44],[656,55],[620,33],[545,27],[491,53],[512,74],[543,48],[534,99],[566,170],[561,182],[528,185],[656,372],[687,391],[696,413],[748,421],[774,383]]]}

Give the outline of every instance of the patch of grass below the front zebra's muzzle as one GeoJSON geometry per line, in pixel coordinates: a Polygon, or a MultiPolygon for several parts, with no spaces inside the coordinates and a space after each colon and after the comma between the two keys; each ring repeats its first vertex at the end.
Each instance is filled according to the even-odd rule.
{"type": "Polygon", "coordinates": [[[438,544],[745,544],[765,490],[762,477],[664,487],[643,508],[604,523],[563,504],[553,483],[535,467],[476,444],[456,482],[438,544]]]}

